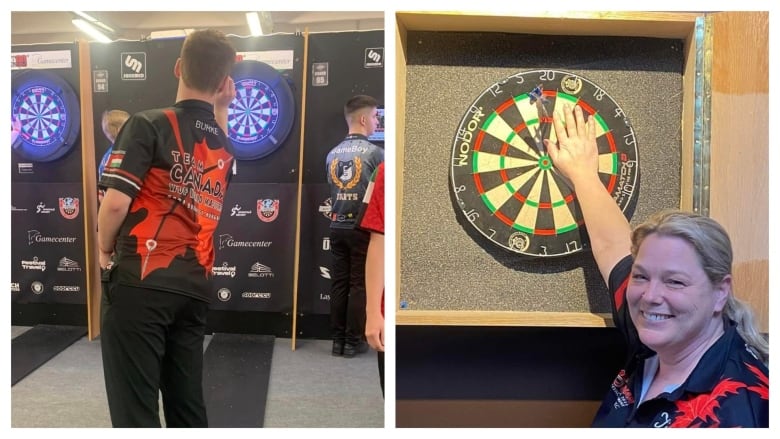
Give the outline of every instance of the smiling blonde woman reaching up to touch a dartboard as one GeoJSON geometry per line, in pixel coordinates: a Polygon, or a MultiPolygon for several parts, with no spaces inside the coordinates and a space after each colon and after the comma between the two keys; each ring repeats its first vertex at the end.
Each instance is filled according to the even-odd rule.
{"type": "Polygon", "coordinates": [[[768,427],[769,346],[732,291],[724,228],[666,211],[631,231],[598,177],[594,118],[567,104],[553,125],[548,153],[574,185],[628,343],[593,426],[768,427]]]}

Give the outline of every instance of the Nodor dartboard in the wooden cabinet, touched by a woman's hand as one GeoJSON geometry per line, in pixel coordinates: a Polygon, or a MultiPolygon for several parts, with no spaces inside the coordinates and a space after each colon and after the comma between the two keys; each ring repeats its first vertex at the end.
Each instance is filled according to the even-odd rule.
{"type": "Polygon", "coordinates": [[[639,157],[628,117],[607,92],[570,72],[521,72],[492,84],[466,110],[452,145],[456,210],[487,240],[533,257],[588,246],[571,184],[543,140],[556,141],[552,115],[579,105],[596,119],[599,177],[630,219],[639,195],[639,157]]]}

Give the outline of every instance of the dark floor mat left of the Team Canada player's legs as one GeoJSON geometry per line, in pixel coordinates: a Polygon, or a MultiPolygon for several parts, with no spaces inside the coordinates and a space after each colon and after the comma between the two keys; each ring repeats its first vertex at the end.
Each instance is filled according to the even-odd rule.
{"type": "Polygon", "coordinates": [[[36,325],[11,340],[11,386],[87,335],[83,326],[36,325]]]}

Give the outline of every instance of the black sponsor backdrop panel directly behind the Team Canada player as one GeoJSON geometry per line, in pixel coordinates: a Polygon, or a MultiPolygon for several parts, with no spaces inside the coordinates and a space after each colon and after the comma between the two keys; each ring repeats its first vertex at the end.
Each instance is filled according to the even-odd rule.
{"type": "MultiPolygon", "coordinates": [[[[208,325],[215,332],[285,336],[291,326],[303,37],[230,38],[240,59],[259,56],[262,61],[268,53],[283,59],[284,68],[278,71],[293,92],[295,111],[289,135],[278,149],[257,160],[237,162],[214,235],[217,275],[208,325]],[[266,203],[258,206],[263,200],[266,203]],[[236,214],[231,216],[235,207],[236,214]],[[265,215],[267,221],[258,215],[265,215]],[[260,246],[263,242],[270,244],[229,247],[236,243],[260,246]]],[[[91,45],[96,163],[109,146],[101,128],[105,110],[133,114],[175,102],[173,68],[183,41],[173,38],[91,45]]]]}

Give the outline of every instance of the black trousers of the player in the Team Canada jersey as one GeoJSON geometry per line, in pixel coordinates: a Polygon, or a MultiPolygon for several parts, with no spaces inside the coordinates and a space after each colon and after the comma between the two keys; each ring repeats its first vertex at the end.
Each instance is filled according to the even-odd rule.
{"type": "Polygon", "coordinates": [[[105,275],[100,347],[111,424],[160,427],[162,393],[166,427],[208,427],[202,381],[208,304],[117,285],[105,275]]]}

